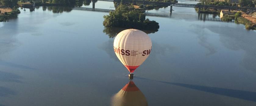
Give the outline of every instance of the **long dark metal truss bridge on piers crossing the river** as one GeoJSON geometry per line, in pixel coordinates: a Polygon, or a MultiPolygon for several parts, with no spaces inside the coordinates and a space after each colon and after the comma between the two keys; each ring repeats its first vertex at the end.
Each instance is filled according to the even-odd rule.
{"type": "MultiPolygon", "coordinates": [[[[121,2],[121,0],[98,0],[106,2],[121,2]]],[[[233,6],[219,6],[219,5],[197,5],[197,4],[187,4],[187,3],[173,3],[173,2],[153,2],[153,1],[144,1],[144,0],[122,0],[123,3],[133,3],[133,4],[144,4],[144,5],[162,5],[162,6],[171,6],[170,12],[172,11],[172,6],[176,7],[190,7],[190,8],[201,8],[204,9],[219,9],[219,10],[236,10],[236,11],[250,11],[256,12],[256,8],[250,7],[233,7],[233,6]]]]}

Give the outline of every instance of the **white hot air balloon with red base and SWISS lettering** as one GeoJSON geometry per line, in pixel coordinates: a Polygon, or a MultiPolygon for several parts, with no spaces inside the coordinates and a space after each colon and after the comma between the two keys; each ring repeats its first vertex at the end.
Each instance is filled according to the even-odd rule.
{"type": "Polygon", "coordinates": [[[149,36],[137,29],[123,30],[116,35],[114,40],[116,56],[130,71],[130,75],[133,75],[136,68],[148,58],[151,48],[149,36]]]}

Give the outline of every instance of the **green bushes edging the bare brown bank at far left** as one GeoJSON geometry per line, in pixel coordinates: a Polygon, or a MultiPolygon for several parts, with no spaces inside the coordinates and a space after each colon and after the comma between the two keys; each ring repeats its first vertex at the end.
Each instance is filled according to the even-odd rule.
{"type": "MultiPolygon", "coordinates": [[[[4,9],[5,8],[1,8],[1,10],[4,10],[4,9]]],[[[13,9],[11,12],[3,12],[3,13],[0,11],[0,22],[6,22],[10,18],[17,18],[18,14],[20,14],[19,9],[13,9]]]]}

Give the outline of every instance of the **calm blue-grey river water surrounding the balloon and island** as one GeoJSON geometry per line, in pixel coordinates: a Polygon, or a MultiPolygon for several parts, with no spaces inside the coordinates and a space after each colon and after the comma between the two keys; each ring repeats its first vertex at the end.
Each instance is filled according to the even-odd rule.
{"type": "MultiPolygon", "coordinates": [[[[98,1],[95,8],[110,6],[98,1]]],[[[113,51],[123,29],[104,28],[108,13],[56,8],[20,9],[0,23],[0,106],[106,106],[129,82],[113,51]]],[[[149,32],[152,52],[133,81],[148,105],[255,106],[256,31],[173,9],[175,18],[147,17],[160,28],[149,32]]]]}

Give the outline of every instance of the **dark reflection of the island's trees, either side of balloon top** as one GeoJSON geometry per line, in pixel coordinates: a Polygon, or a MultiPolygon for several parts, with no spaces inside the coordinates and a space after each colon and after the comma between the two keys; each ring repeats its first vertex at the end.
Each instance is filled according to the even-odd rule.
{"type": "MultiPolygon", "coordinates": [[[[126,29],[129,29],[129,28],[105,27],[103,29],[103,32],[107,34],[109,38],[114,38],[119,32],[126,29]]],[[[146,34],[151,34],[151,33],[157,32],[158,30],[157,31],[141,30],[141,31],[144,31],[146,34]]]]}

